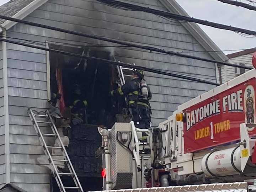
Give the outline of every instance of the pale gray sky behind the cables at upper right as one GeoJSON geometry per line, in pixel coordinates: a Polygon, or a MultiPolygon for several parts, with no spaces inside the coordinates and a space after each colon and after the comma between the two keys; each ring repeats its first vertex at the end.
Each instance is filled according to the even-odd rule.
{"type": "MultiPolygon", "coordinates": [[[[0,0],[0,5],[8,1],[9,0],[0,0]]],[[[191,17],[256,31],[256,11],[224,4],[217,0],[176,1],[191,17]]],[[[242,2],[248,3],[246,0],[242,0],[242,2]]],[[[200,25],[200,27],[222,50],[247,49],[256,47],[256,37],[246,38],[231,31],[219,30],[203,25],[200,25]]]]}

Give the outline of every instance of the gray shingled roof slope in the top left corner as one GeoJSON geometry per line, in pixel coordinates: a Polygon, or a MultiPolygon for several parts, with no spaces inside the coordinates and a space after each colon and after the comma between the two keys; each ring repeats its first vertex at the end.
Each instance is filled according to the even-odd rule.
{"type": "MultiPolygon", "coordinates": [[[[9,2],[0,6],[0,13],[1,15],[12,17],[33,1],[34,0],[10,0],[9,2]]],[[[1,19],[0,25],[5,21],[6,20],[1,19]]]]}

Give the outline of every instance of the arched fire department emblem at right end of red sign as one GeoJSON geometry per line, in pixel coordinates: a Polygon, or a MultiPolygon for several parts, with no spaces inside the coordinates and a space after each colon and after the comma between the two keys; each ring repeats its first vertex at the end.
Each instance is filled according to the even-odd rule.
{"type": "Polygon", "coordinates": [[[255,123],[255,94],[254,87],[249,85],[245,89],[245,122],[249,124],[255,123]]]}

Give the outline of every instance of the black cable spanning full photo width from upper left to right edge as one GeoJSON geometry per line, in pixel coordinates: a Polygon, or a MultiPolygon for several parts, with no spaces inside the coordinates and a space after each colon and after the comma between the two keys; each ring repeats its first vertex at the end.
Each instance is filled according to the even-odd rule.
{"type": "MultiPolygon", "coordinates": [[[[220,62],[220,61],[213,60],[213,59],[205,59],[205,58],[196,57],[196,56],[192,56],[192,55],[186,55],[186,54],[177,53],[177,52],[173,52],[173,51],[166,51],[164,49],[159,49],[159,48],[150,47],[150,46],[141,46],[141,45],[138,45],[138,44],[127,43],[127,42],[118,41],[118,40],[110,39],[110,38],[106,38],[106,37],[100,37],[100,36],[96,36],[96,35],[92,35],[92,34],[86,34],[86,33],[81,33],[81,32],[65,30],[65,29],[62,29],[62,28],[42,25],[42,24],[39,24],[39,23],[30,22],[30,21],[23,21],[23,20],[20,20],[20,19],[12,18],[12,17],[6,17],[6,16],[0,15],[0,18],[5,19],[5,20],[18,22],[18,23],[23,23],[23,24],[26,24],[26,25],[35,26],[35,27],[42,27],[42,28],[46,28],[46,29],[50,29],[50,30],[54,30],[54,31],[59,31],[59,32],[63,32],[63,33],[69,33],[69,34],[74,34],[74,35],[78,35],[78,36],[82,36],[82,37],[87,37],[87,38],[97,39],[97,40],[101,40],[101,41],[107,41],[107,42],[111,42],[111,43],[121,44],[121,45],[124,45],[124,46],[136,47],[136,48],[139,48],[139,49],[145,49],[145,50],[149,50],[150,52],[154,51],[154,52],[169,54],[169,55],[172,55],[172,56],[184,57],[184,58],[189,58],[189,59],[196,59],[196,60],[201,60],[201,61],[210,62],[210,63],[218,63],[218,64],[233,66],[233,67],[237,67],[237,68],[243,68],[243,69],[249,69],[249,70],[253,69],[253,68],[248,67],[248,66],[241,66],[241,65],[231,64],[231,63],[225,63],[225,62],[220,62]]],[[[256,32],[255,32],[255,34],[256,34],[256,32]]]]}

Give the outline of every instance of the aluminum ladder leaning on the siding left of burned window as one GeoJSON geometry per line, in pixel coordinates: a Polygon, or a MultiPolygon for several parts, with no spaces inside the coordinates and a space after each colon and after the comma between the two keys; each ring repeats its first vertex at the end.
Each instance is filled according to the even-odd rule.
{"type": "Polygon", "coordinates": [[[72,191],[77,191],[77,192],[83,192],[82,186],[78,180],[78,176],[76,175],[76,172],[74,170],[74,167],[69,159],[68,153],[66,152],[65,146],[63,145],[63,142],[60,138],[60,135],[58,133],[58,130],[54,124],[54,120],[52,118],[52,116],[50,115],[49,111],[47,110],[45,112],[45,114],[35,114],[34,111],[32,111],[31,109],[27,110],[28,115],[30,116],[30,119],[33,123],[34,128],[36,129],[38,138],[40,140],[41,145],[43,146],[43,150],[44,153],[46,154],[47,158],[49,159],[49,164],[50,164],[50,168],[52,170],[53,176],[55,177],[57,184],[59,186],[59,189],[61,192],[66,192],[66,190],[72,190],[72,191]],[[37,118],[44,118],[45,121],[38,121],[37,118]],[[52,132],[53,134],[46,134],[46,133],[42,133],[38,123],[43,123],[43,124],[48,124],[51,128],[52,128],[52,132]],[[44,140],[44,136],[46,137],[54,137],[57,140],[58,146],[48,146],[44,140]],[[59,159],[53,159],[52,155],[49,151],[49,149],[61,149],[62,153],[63,153],[63,159],[59,160],[59,159]],[[69,172],[68,173],[63,173],[63,172],[59,172],[58,168],[55,165],[55,162],[64,162],[66,163],[66,165],[68,166],[69,172]],[[61,180],[61,176],[70,176],[73,178],[73,181],[75,183],[74,187],[68,187],[68,186],[64,186],[62,180],[61,180]]]}

